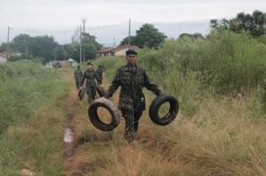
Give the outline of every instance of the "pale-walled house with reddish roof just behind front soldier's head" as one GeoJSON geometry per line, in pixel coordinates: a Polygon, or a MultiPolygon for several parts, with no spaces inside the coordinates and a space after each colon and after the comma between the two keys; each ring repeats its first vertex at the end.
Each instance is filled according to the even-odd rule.
{"type": "Polygon", "coordinates": [[[118,47],[112,47],[112,48],[102,48],[100,50],[100,56],[101,57],[126,57],[126,51],[129,49],[137,49],[136,46],[130,46],[130,45],[122,45],[118,47]]]}

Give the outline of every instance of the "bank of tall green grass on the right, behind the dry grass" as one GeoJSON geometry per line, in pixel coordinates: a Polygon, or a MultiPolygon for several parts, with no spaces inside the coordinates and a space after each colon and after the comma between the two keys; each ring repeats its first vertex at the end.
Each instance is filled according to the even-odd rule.
{"type": "Polygon", "coordinates": [[[140,63],[154,73],[192,72],[201,84],[230,94],[265,86],[265,59],[265,44],[230,31],[213,31],[207,39],[168,40],[161,49],[140,53],[140,63]]]}

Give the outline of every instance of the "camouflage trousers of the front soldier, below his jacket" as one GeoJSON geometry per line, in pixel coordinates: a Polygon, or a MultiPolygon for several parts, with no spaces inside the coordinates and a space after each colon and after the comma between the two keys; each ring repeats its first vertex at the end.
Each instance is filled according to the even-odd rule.
{"type": "Polygon", "coordinates": [[[139,119],[142,116],[142,110],[121,110],[122,116],[126,119],[125,138],[131,143],[137,133],[139,119]]]}

